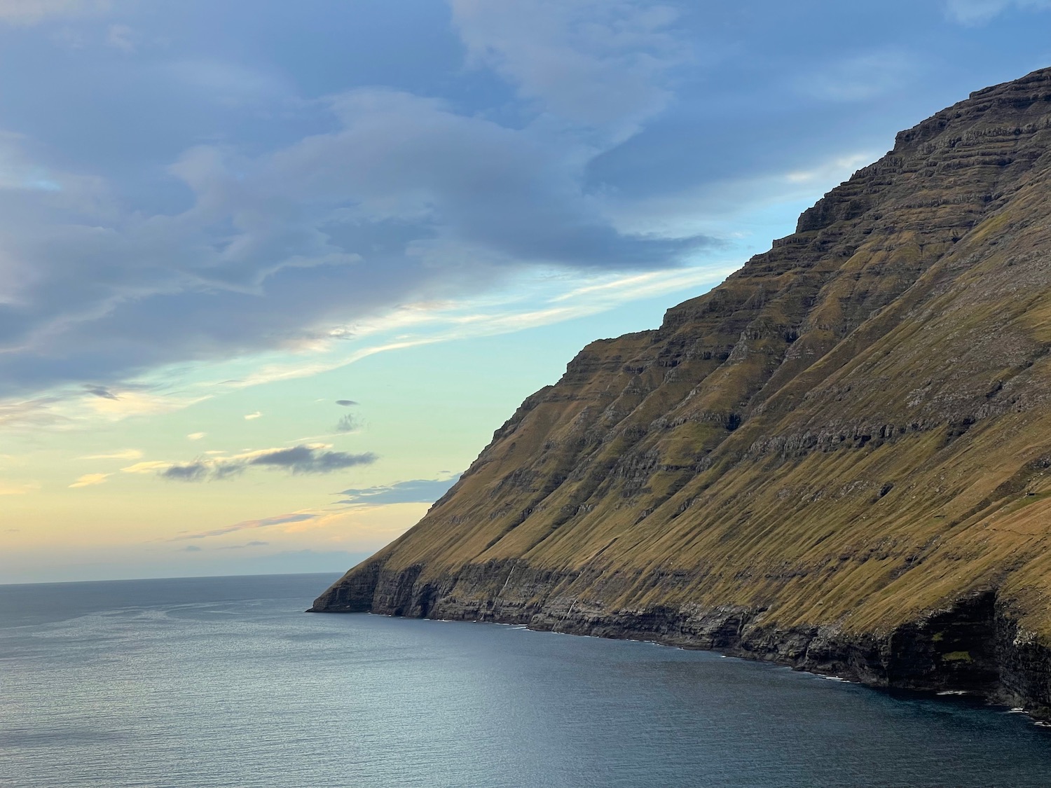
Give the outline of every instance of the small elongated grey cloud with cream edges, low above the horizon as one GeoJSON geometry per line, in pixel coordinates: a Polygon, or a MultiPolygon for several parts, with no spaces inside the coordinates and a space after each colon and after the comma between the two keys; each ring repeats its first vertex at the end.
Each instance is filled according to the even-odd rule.
{"type": "MultiPolygon", "coordinates": [[[[327,474],[356,465],[375,462],[378,457],[372,452],[348,454],[327,451],[321,443],[300,444],[290,449],[264,449],[246,452],[232,457],[210,457],[182,464],[166,463],[157,469],[158,475],[178,481],[205,481],[238,476],[249,468],[273,468],[291,474],[327,474]]],[[[145,463],[140,463],[145,464],[145,463]]],[[[132,466],[135,468],[135,466],[132,466]]],[[[124,469],[129,473],[139,473],[124,469]]]]}

